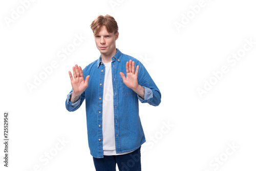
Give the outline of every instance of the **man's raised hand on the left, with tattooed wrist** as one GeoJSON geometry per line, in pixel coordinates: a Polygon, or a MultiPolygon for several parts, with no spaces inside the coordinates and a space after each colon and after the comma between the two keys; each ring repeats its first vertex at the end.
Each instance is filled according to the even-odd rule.
{"type": "Polygon", "coordinates": [[[74,98],[76,98],[76,97],[79,98],[80,95],[82,94],[82,92],[84,90],[86,90],[86,88],[88,87],[88,81],[89,81],[89,77],[90,77],[90,75],[88,75],[86,77],[86,80],[84,81],[82,69],[80,66],[78,67],[77,65],[75,65],[75,67],[73,67],[73,75],[74,75],[74,78],[73,78],[71,72],[69,71],[69,76],[70,76],[72,89],[73,89],[71,102],[73,101],[74,98]]]}

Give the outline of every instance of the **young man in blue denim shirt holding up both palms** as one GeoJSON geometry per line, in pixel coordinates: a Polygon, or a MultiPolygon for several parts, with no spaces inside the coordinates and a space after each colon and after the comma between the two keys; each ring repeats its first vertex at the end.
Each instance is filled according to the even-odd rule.
{"type": "Polygon", "coordinates": [[[116,170],[116,163],[120,171],[141,170],[145,136],[138,101],[157,106],[161,93],[142,63],[116,48],[119,33],[112,16],[99,15],[91,29],[100,57],[83,70],[75,65],[73,76],[69,71],[72,90],[66,108],[76,111],[86,101],[89,148],[97,171],[116,170]]]}

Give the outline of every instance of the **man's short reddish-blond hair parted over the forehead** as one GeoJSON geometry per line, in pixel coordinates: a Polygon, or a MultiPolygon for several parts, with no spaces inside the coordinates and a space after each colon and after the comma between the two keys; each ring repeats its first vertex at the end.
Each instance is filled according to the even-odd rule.
{"type": "Polygon", "coordinates": [[[91,24],[91,29],[93,30],[94,35],[99,32],[99,28],[105,26],[106,30],[109,33],[114,32],[114,34],[118,31],[118,26],[116,20],[113,16],[106,14],[105,16],[99,15],[96,19],[93,20],[91,24]]]}

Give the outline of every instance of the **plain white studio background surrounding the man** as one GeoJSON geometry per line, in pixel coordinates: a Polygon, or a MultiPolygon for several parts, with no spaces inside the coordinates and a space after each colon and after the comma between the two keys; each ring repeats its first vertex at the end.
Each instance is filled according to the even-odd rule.
{"type": "Polygon", "coordinates": [[[8,24],[6,18],[24,1],[0,3],[1,142],[3,115],[10,113],[9,167],[3,166],[1,143],[1,170],[95,170],[85,104],[68,112],[65,100],[71,91],[68,71],[100,55],[90,29],[100,14],[116,19],[117,48],[141,60],[162,93],[159,106],[140,104],[147,139],[142,170],[255,170],[256,45],[236,65],[227,61],[245,39],[256,41],[253,1],[205,0],[195,14],[189,6],[199,0],[113,0],[114,7],[109,0],[37,0],[8,24]],[[182,19],[177,29],[175,22],[182,19]],[[58,52],[75,34],[87,38],[61,60],[58,52]],[[52,61],[57,67],[30,92],[27,84],[52,61]],[[213,78],[222,66],[228,72],[213,78]],[[197,89],[210,79],[217,82],[201,98],[197,89]],[[167,130],[166,124],[173,127],[167,130]],[[58,139],[68,141],[60,150],[54,149],[58,139]],[[228,144],[236,146],[233,151],[228,144]],[[40,161],[50,152],[54,156],[47,164],[40,161]]]}

